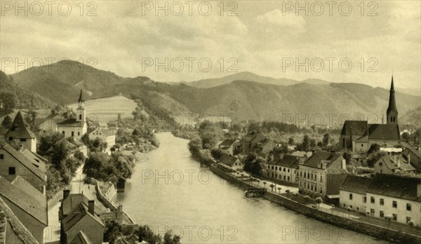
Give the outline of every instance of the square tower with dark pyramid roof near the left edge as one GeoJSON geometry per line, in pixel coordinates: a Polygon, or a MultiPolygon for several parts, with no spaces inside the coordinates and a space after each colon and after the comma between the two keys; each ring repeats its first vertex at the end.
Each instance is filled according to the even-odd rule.
{"type": "Polygon", "coordinates": [[[29,128],[20,111],[16,114],[11,128],[4,137],[15,148],[36,152],[36,135],[29,128]]]}

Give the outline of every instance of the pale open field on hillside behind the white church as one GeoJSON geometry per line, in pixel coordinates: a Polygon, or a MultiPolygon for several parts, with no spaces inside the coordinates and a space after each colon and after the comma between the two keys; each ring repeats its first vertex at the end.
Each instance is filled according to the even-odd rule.
{"type": "MultiPolygon", "coordinates": [[[[121,118],[133,117],[132,112],[137,106],[134,100],[122,95],[88,100],[85,102],[86,117],[93,121],[108,123],[115,121],[119,114],[121,118]]],[[[76,111],[77,103],[69,104],[68,107],[76,111]]]]}

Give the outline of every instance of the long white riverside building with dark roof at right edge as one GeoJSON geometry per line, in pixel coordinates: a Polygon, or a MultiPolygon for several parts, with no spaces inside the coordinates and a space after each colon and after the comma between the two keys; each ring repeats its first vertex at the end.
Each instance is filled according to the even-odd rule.
{"type": "Polygon", "coordinates": [[[340,188],[340,203],[342,208],[365,209],[372,217],[392,215],[396,222],[413,220],[420,226],[421,178],[380,173],[372,178],[349,176],[340,188]]]}

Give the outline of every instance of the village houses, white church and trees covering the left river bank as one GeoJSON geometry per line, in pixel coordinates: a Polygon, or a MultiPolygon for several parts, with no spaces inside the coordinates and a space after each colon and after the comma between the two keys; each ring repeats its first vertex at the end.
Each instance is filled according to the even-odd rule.
{"type": "MultiPolygon", "coordinates": [[[[84,102],[81,90],[76,111],[65,111],[65,116],[52,111],[30,123],[18,111],[9,125],[7,119],[3,121],[7,130],[0,145],[0,243],[146,243],[142,240],[145,236],[161,238],[147,226],[135,224],[122,205],[112,202],[118,191],[124,191],[124,182],[131,176],[137,143],[151,142],[140,140],[140,129],[133,128],[127,135],[120,133],[131,142],[116,144],[120,129],[89,121],[84,102]],[[90,174],[86,168],[96,160],[93,155],[100,156],[102,164],[109,160],[127,172],[90,174]],[[118,158],[118,163],[113,158],[118,158]],[[71,193],[69,185],[81,170],[85,182],[78,184],[83,183],[85,191],[91,190],[83,194],[79,188],[71,193]],[[49,204],[58,200],[60,226],[51,226],[54,223],[48,223],[49,204]],[[60,241],[51,242],[51,233],[46,231],[51,227],[59,230],[60,241]]],[[[91,167],[101,170],[101,166],[91,167]]]]}

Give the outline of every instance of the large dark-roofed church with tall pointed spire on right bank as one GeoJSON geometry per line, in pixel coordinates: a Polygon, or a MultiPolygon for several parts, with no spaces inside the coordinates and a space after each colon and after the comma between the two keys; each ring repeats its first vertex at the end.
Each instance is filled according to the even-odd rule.
{"type": "Polygon", "coordinates": [[[393,76],[386,115],[387,123],[345,121],[340,133],[342,149],[352,149],[354,154],[359,154],[368,151],[371,144],[379,144],[381,147],[394,147],[399,144],[398,109],[396,108],[393,76]]]}

